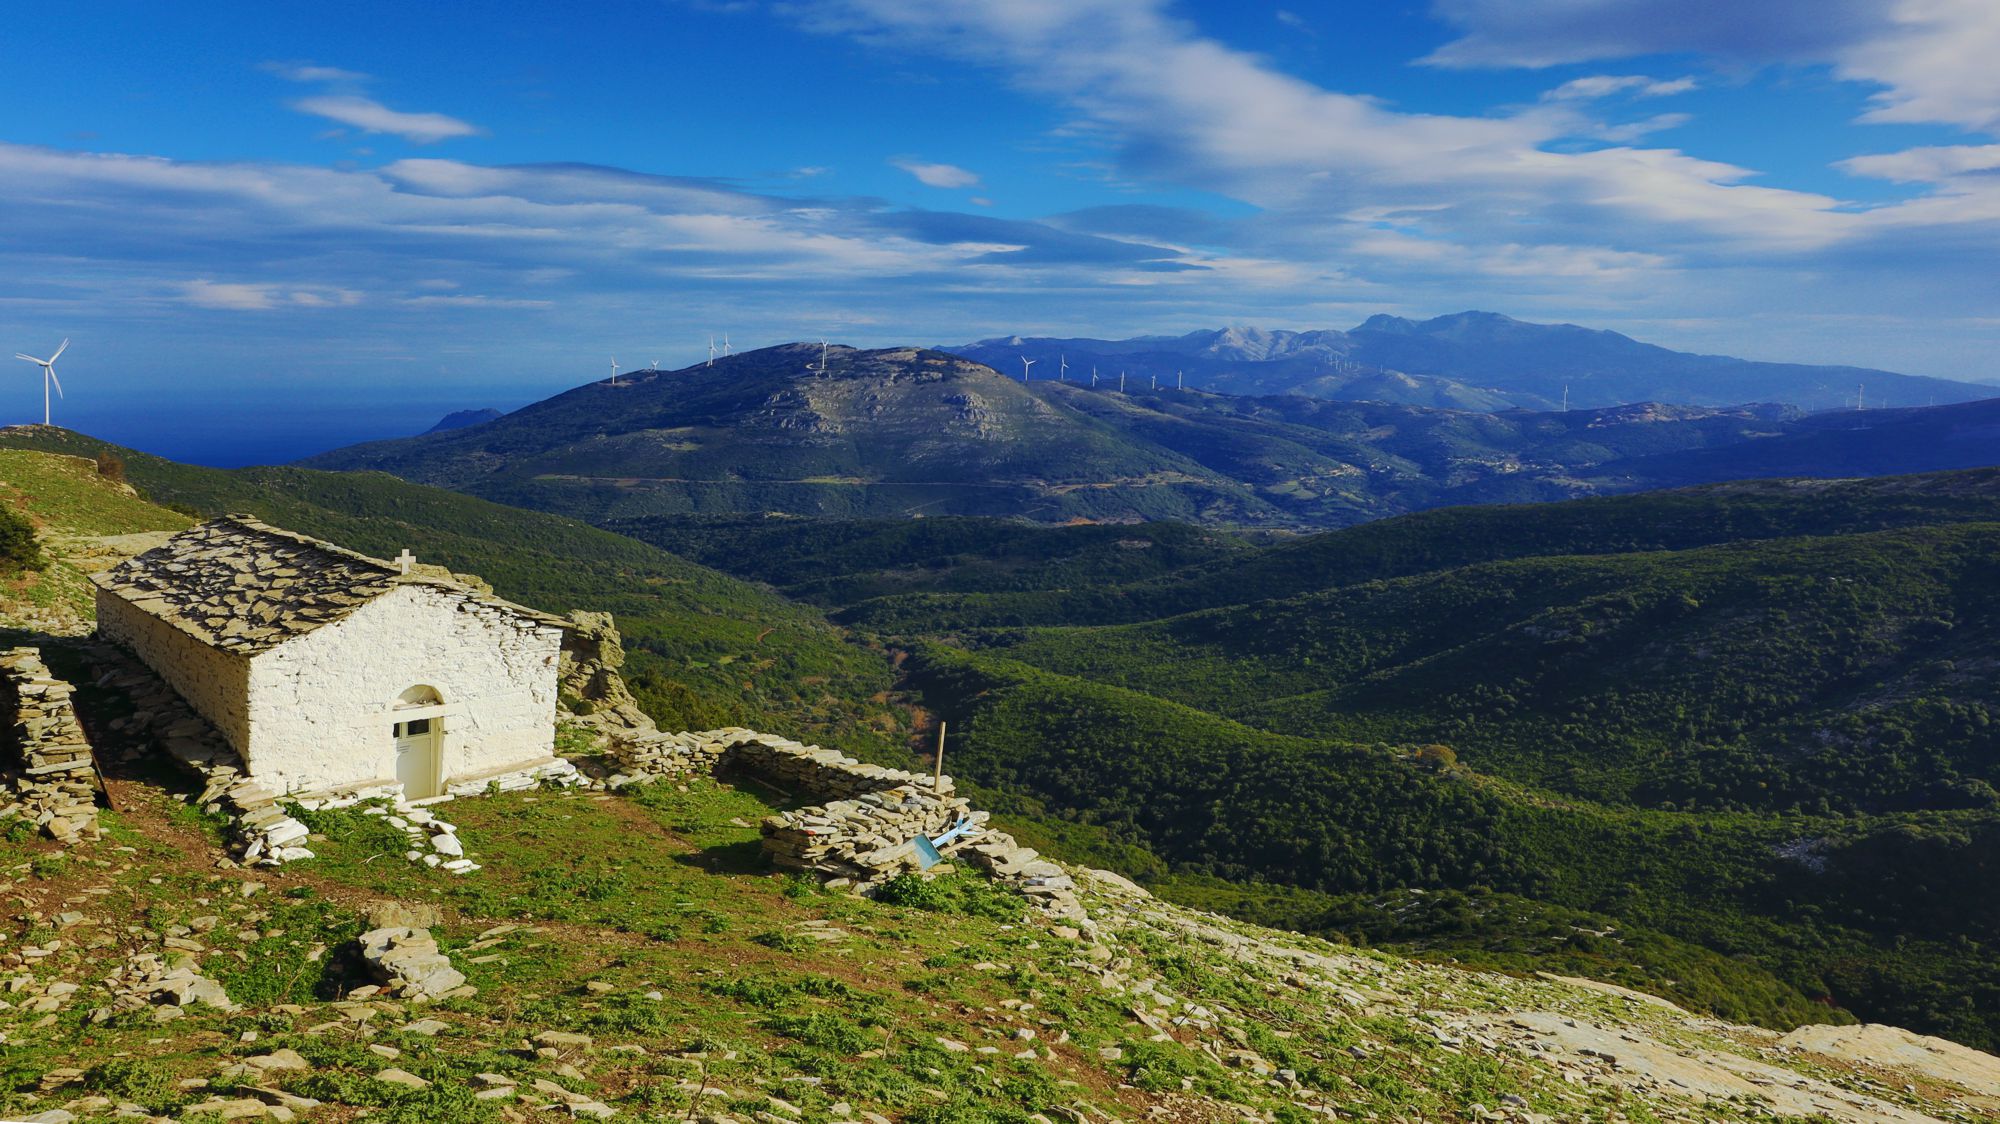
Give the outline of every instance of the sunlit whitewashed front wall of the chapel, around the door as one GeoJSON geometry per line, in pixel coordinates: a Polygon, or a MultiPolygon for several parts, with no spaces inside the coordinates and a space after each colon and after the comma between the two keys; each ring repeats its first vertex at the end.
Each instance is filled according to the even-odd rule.
{"type": "Polygon", "coordinates": [[[560,652],[554,626],[400,586],[250,662],[250,774],[288,792],[394,780],[392,706],[412,686],[448,708],[444,784],[548,760],[560,652]]]}

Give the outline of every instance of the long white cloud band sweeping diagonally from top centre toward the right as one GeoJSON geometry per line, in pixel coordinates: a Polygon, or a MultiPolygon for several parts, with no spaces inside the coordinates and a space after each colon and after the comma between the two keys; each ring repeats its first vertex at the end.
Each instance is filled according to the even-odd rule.
{"type": "Polygon", "coordinates": [[[1798,248],[1848,222],[1838,200],[1750,186],[1748,168],[1674,150],[1552,150],[1612,128],[1576,108],[1408,114],[1326,90],[1196,34],[1164,0],[844,0],[820,8],[818,26],[1004,66],[1106,130],[1122,176],[1250,202],[1300,246],[1336,252],[1336,216],[1376,204],[1446,204],[1426,236],[1510,244],[1530,226],[1552,244],[1634,252],[1798,248]]]}

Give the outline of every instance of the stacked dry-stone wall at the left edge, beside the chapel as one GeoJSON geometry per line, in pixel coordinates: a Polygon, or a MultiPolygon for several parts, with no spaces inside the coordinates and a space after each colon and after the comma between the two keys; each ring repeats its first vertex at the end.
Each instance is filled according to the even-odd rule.
{"type": "Polygon", "coordinates": [[[0,818],[26,816],[62,842],[98,838],[98,768],[72,690],[50,674],[38,648],[0,654],[0,706],[14,714],[0,818]]]}

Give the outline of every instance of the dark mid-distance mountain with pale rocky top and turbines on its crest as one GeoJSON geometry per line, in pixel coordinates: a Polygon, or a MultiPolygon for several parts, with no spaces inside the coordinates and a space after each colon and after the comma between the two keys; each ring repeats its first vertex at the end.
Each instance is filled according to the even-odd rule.
{"type": "Polygon", "coordinates": [[[1782,408],[1488,414],[1304,396],[1022,384],[920,348],[786,344],[578,386],[314,468],[384,470],[594,522],[984,514],[1348,526],[1440,504],[1626,490],[1600,466],[1788,432],[1782,408]]]}

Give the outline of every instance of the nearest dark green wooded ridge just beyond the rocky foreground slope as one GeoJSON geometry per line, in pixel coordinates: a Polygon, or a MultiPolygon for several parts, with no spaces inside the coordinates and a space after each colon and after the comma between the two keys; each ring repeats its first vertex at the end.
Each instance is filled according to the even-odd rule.
{"type": "MultiPolygon", "coordinates": [[[[1188,874],[1294,886],[1312,910],[1214,884],[1196,884],[1190,900],[1366,934],[1356,902],[1340,896],[1500,890],[1634,926],[1634,944],[1600,952],[1694,1004],[1782,1022],[1810,1010],[1806,998],[1832,998],[1874,1020],[2000,1040],[2000,972],[1980,938],[2000,914],[1932,878],[2000,870],[1992,812],[1612,808],[1426,766],[1394,746],[1254,730],[992,654],[930,648],[916,670],[952,720],[960,774],[1044,824],[1076,824],[1050,828],[1058,852],[1134,868],[1120,850],[1144,848],[1170,874],[1162,892],[1188,874]],[[1106,838],[1120,844],[1096,850],[1106,838]],[[1814,866],[1782,854],[1792,850],[1814,866]],[[1704,996],[1708,954],[1682,942],[1746,956],[1782,984],[1750,974],[1760,982],[1732,984],[1734,1000],[1704,996]]],[[[1482,920],[1434,946],[1490,954],[1508,936],[1482,920]]]]}

